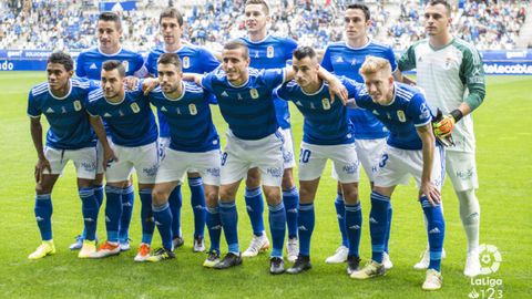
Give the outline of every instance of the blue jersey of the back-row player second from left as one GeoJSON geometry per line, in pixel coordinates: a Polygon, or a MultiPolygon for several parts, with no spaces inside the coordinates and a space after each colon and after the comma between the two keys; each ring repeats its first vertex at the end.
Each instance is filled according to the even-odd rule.
{"type": "MultiPolygon", "coordinates": [[[[163,54],[167,53],[164,48],[155,48],[147,54],[145,68],[152,76],[157,76],[157,60],[163,54]]],[[[196,45],[183,45],[175,52],[183,64],[184,73],[204,74],[208,73],[219,65],[219,61],[208,52],[206,49],[196,45]]],[[[214,96],[209,97],[209,101],[216,103],[214,96]]],[[[170,137],[170,127],[164,118],[164,113],[157,110],[158,118],[158,135],[161,137],[170,137]]]]}

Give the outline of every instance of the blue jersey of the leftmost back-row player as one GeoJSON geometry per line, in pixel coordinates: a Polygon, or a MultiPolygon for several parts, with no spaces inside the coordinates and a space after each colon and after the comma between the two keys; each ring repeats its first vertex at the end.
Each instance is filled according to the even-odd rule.
{"type": "Polygon", "coordinates": [[[114,54],[104,54],[98,47],[80,53],[75,63],[75,75],[79,78],[100,80],[102,78],[102,64],[108,60],[122,61],[126,75],[145,75],[145,69],[143,68],[144,59],[140,53],[120,49],[120,51],[114,54]]]}

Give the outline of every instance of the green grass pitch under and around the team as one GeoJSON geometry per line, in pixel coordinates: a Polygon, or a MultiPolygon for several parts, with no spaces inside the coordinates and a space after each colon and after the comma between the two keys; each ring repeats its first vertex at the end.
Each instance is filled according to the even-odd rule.
{"type": "MultiPolygon", "coordinates": [[[[27,256],[40,244],[40,236],[33,216],[37,156],[25,109],[29,89],[44,80],[44,72],[0,73],[0,295],[4,298],[468,298],[473,288],[479,298],[490,298],[485,291],[488,287],[472,286],[462,275],[466,237],[458,215],[458,199],[449,181],[443,188],[447,259],[442,262],[442,290],[430,295],[423,292],[424,272],[412,268],[427,243],[413,183],[399,187],[392,199],[390,255],[395,268],[386,277],[355,281],[346,275],[345,265],[326,265],[325,258],[335,251],[340,239],[334,209],[336,185],[329,176],[330,167],[324,172],[316,198],[317,223],[311,247],[314,268],[303,275],[270,276],[267,255],[244,260],[242,267],[232,270],[203,268],[205,255],[192,252],[193,221],[187,187],[183,188],[185,246],[176,250],[175,260],[157,265],[136,264],[133,261],[135,249],[119,257],[80,260],[68,249],[82,229],[81,202],[72,165],[66,167],[52,195],[58,252],[30,261],[27,256]]],[[[488,78],[488,96],[474,113],[480,176],[478,197],[482,208],[481,243],[492,244],[501,251],[501,267],[490,277],[502,279],[503,286],[497,290],[502,290],[504,298],[530,298],[531,292],[531,82],[530,76],[488,78]]],[[[226,125],[217,109],[213,111],[218,132],[225,140],[226,125]]],[[[291,112],[297,148],[303,118],[296,110],[291,112]]],[[[252,233],[242,189],[237,206],[241,247],[245,249],[252,233]]],[[[360,249],[362,259],[368,259],[370,204],[364,176],[360,198],[364,209],[360,249]]],[[[141,238],[139,207],[136,199],[131,229],[133,248],[141,238]]],[[[103,217],[100,217],[98,235],[102,239],[105,237],[103,217]]],[[[153,244],[160,244],[157,233],[153,244]]],[[[224,240],[222,245],[225,251],[224,240]]],[[[491,298],[501,298],[497,297],[501,292],[493,295],[491,298]]]]}

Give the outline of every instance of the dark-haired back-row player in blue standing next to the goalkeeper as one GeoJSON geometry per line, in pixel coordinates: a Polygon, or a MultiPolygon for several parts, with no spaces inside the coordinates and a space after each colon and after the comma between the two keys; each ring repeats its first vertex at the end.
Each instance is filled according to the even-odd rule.
{"type": "MultiPolygon", "coordinates": [[[[345,75],[357,82],[362,82],[362,78],[358,70],[364,63],[367,55],[379,56],[390,62],[392,71],[396,70],[396,59],[393,51],[389,45],[372,41],[368,37],[368,28],[371,25],[371,16],[369,9],[365,4],[349,4],[344,17],[345,32],[347,41],[335,42],[327,47],[324,54],[321,66],[334,72],[336,75],[345,75]]],[[[386,137],[388,131],[381,122],[375,117],[371,112],[366,110],[350,109],[349,117],[355,125],[355,143],[357,147],[357,155],[361,162],[366,175],[374,186],[375,172],[380,159],[380,154],[386,145],[386,137]]],[[[341,246],[336,250],[336,254],[328,257],[326,262],[337,264],[347,260],[348,256],[359,255],[360,233],[362,223],[361,207],[357,209],[357,224],[346,228],[345,225],[345,208],[344,195],[338,185],[338,195],[335,202],[338,225],[341,233],[341,246]],[[355,231],[349,231],[355,230],[355,231]],[[348,250],[348,234],[356,234],[355,245],[349,246],[348,250]]],[[[391,205],[388,213],[391,224],[391,205]]],[[[389,230],[389,229],[388,229],[389,230]]],[[[388,237],[385,250],[385,267],[390,269],[393,265],[388,256],[388,237]]]]}

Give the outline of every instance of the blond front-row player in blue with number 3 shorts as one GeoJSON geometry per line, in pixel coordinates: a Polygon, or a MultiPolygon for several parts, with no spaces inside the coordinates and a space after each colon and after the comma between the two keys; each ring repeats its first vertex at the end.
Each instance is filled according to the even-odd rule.
{"type": "Polygon", "coordinates": [[[440,207],[443,179],[443,151],[436,146],[432,116],[423,94],[415,87],[395,83],[388,60],[368,56],[360,68],[366,89],[359,87],[355,103],[371,111],[390,131],[371,192],[369,231],[371,261],[351,274],[367,279],[385,275],[383,252],[390,197],[398,184],[408,185],[410,175],[419,187],[419,202],[427,216],[430,265],[422,285],[424,290],[441,288],[441,250],[446,223],[440,207]]]}

